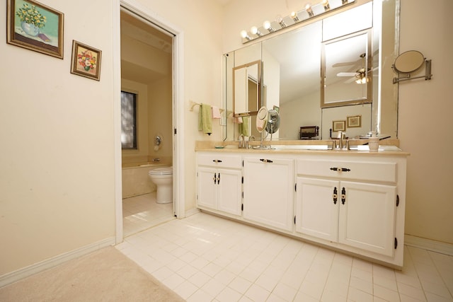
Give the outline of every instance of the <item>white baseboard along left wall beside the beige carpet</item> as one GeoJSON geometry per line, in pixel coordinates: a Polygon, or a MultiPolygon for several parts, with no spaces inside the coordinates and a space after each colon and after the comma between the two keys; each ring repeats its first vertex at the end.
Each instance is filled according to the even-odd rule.
{"type": "Polygon", "coordinates": [[[68,260],[72,260],[75,259],[76,257],[86,255],[95,250],[105,248],[106,246],[109,245],[115,245],[115,237],[105,238],[104,240],[98,241],[97,243],[86,245],[83,248],[71,250],[70,252],[65,252],[56,257],[52,257],[50,259],[35,263],[33,265],[29,265],[28,267],[23,267],[14,272],[9,272],[7,274],[0,276],[0,288],[13,282],[16,282],[18,280],[21,280],[25,277],[29,277],[38,272],[42,272],[45,269],[50,269],[51,267],[60,265],[63,262],[67,262],[68,260]]]}

